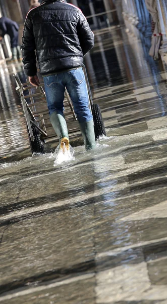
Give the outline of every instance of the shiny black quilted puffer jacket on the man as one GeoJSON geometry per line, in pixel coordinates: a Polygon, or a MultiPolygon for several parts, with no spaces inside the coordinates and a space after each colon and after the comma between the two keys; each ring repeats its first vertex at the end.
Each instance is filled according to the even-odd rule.
{"type": "Polygon", "coordinates": [[[94,35],[82,12],[63,0],[43,0],[29,11],[23,30],[22,54],[25,72],[34,76],[36,59],[42,75],[83,65],[83,56],[93,47],[94,35]]]}

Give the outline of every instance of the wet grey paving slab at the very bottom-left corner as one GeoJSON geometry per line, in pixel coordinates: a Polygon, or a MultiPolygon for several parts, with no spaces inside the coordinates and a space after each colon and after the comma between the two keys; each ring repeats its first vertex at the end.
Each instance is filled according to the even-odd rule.
{"type": "MultiPolygon", "coordinates": [[[[91,276],[92,277],[92,276],[91,276]]],[[[18,304],[57,304],[58,301],[61,304],[95,304],[94,287],[95,278],[85,279],[84,276],[80,281],[81,277],[78,277],[74,282],[72,280],[66,280],[60,284],[59,282],[55,287],[53,283],[50,285],[41,286],[40,291],[35,291],[37,288],[32,288],[31,293],[27,295],[17,295],[10,299],[10,295],[7,300],[3,300],[3,304],[15,304],[16,299],[18,304]],[[72,281],[72,282],[71,282],[72,281]],[[61,286],[62,285],[62,286],[61,286]]],[[[14,295],[11,295],[11,297],[14,295]]]]}

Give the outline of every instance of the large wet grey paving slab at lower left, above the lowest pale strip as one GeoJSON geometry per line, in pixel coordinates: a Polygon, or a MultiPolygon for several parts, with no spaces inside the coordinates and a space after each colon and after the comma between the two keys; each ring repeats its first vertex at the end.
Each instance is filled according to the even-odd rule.
{"type": "Polygon", "coordinates": [[[22,283],[24,286],[28,282],[88,272],[90,265],[94,265],[93,211],[94,206],[67,209],[32,217],[24,225],[22,222],[9,225],[0,247],[1,293],[12,288],[12,284],[20,287],[22,283]],[[85,216],[81,219],[79,214],[85,216]],[[8,267],[10,273],[6,272],[8,267]]]}

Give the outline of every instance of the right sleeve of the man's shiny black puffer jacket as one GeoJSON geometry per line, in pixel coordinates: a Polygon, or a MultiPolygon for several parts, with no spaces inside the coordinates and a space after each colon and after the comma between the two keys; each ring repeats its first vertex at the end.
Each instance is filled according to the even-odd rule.
{"type": "Polygon", "coordinates": [[[79,21],[77,26],[77,33],[82,48],[83,55],[85,56],[94,46],[94,34],[82,13],[79,13],[79,21]]]}

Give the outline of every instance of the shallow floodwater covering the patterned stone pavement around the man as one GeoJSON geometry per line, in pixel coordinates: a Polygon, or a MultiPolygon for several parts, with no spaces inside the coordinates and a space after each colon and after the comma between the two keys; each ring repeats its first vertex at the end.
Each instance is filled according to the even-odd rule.
{"type": "MultiPolygon", "coordinates": [[[[3,304],[167,301],[165,74],[124,28],[95,40],[89,76],[107,136],[64,162],[48,153],[0,165],[3,304]]],[[[3,157],[28,145],[9,85],[3,157]],[[9,122],[20,126],[11,149],[9,122]]]]}

